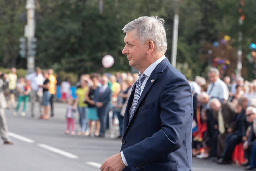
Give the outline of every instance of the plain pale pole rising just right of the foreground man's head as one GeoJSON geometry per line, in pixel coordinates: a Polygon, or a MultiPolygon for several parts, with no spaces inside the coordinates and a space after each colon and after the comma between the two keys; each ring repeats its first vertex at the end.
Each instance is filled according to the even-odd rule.
{"type": "Polygon", "coordinates": [[[178,27],[179,27],[179,15],[174,15],[173,23],[173,43],[172,43],[172,65],[176,68],[176,58],[177,58],[177,43],[178,43],[178,27]]]}

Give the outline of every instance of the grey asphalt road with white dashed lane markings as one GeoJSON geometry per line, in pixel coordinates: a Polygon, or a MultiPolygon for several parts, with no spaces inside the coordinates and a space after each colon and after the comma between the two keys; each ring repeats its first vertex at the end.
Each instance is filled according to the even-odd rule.
{"type": "MultiPolygon", "coordinates": [[[[14,145],[0,144],[0,170],[98,171],[105,159],[119,152],[121,139],[111,139],[118,136],[114,126],[106,138],[65,135],[65,108],[66,104],[55,103],[55,116],[50,120],[38,119],[39,114],[31,118],[30,104],[25,117],[5,110],[14,145]]],[[[193,171],[243,170],[235,165],[217,165],[211,159],[193,158],[192,166],[193,171]]]]}

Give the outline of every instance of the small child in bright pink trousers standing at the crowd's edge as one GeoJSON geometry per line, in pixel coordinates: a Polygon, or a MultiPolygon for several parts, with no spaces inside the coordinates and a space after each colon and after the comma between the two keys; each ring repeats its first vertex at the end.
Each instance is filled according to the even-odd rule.
{"type": "Polygon", "coordinates": [[[72,131],[71,135],[75,135],[75,115],[76,110],[73,109],[76,100],[72,99],[71,97],[68,99],[68,107],[66,110],[66,118],[67,118],[67,129],[65,131],[66,134],[69,134],[69,126],[71,125],[72,131]]]}

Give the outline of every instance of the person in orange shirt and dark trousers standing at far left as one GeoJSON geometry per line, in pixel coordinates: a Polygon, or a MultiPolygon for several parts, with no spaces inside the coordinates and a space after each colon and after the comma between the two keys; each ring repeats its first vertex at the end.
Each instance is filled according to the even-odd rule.
{"type": "Polygon", "coordinates": [[[53,69],[49,69],[48,70],[48,74],[49,74],[49,80],[50,80],[50,84],[49,84],[49,93],[51,94],[51,98],[50,98],[50,103],[51,103],[51,117],[54,116],[53,113],[53,99],[54,99],[54,95],[56,94],[56,84],[57,84],[57,80],[56,77],[53,74],[53,69]]]}

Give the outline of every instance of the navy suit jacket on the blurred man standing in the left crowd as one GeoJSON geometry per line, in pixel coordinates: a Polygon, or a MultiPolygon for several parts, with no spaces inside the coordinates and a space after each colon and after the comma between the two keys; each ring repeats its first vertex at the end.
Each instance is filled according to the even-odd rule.
{"type": "Polygon", "coordinates": [[[101,108],[97,108],[98,113],[107,112],[111,97],[112,97],[112,90],[109,86],[106,88],[106,90],[102,93],[101,96],[100,96],[100,87],[96,88],[95,94],[94,94],[94,101],[103,103],[103,106],[101,108]]]}

